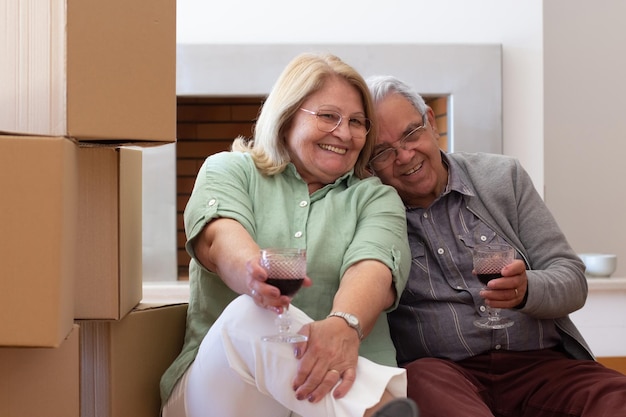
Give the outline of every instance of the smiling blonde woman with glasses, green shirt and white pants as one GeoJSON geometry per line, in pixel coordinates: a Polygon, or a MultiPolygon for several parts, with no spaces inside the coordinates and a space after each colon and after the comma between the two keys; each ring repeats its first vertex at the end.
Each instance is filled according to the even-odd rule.
{"type": "Polygon", "coordinates": [[[185,210],[191,297],[162,378],[165,417],[417,415],[386,318],[410,267],[404,206],[368,175],[372,109],[352,67],[303,54],[254,137],[207,158],[185,210]],[[267,247],[306,250],[293,300],[265,282],[267,247]],[[290,302],[308,340],[262,342],[290,302]]]}

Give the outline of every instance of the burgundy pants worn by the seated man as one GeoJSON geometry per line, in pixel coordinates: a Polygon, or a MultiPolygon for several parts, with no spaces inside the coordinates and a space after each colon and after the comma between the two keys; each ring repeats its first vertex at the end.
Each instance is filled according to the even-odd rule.
{"type": "Polygon", "coordinates": [[[492,351],[406,366],[420,417],[626,416],[626,376],[555,350],[492,351]]]}

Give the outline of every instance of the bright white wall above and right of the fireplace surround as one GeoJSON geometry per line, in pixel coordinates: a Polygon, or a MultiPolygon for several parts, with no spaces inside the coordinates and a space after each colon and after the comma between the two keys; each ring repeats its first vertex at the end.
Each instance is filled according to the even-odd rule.
{"type": "Polygon", "coordinates": [[[177,42],[183,44],[502,44],[504,153],[522,161],[543,193],[540,0],[178,0],[177,4],[177,42]]]}

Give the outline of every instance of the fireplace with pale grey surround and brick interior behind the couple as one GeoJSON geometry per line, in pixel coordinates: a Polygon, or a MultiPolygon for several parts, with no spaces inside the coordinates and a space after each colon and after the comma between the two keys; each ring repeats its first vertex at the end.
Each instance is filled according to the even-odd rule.
{"type": "MultiPolygon", "coordinates": [[[[177,260],[185,279],[182,213],[211,153],[251,128],[284,66],[304,51],[328,51],[365,77],[395,75],[441,115],[451,151],[502,152],[500,45],[178,45],[177,260]]],[[[443,125],[441,125],[443,124],[443,125]]]]}

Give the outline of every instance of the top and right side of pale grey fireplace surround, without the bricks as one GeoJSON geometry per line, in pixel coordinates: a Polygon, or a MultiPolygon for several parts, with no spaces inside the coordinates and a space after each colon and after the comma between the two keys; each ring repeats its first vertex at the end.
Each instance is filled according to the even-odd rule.
{"type": "Polygon", "coordinates": [[[499,44],[178,44],[178,96],[267,95],[302,52],[329,52],[364,77],[394,75],[425,96],[448,97],[454,152],[502,153],[499,44]]]}

